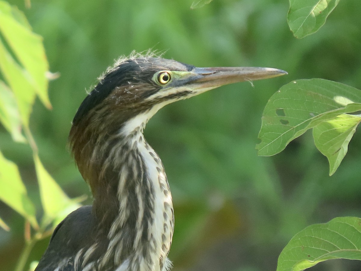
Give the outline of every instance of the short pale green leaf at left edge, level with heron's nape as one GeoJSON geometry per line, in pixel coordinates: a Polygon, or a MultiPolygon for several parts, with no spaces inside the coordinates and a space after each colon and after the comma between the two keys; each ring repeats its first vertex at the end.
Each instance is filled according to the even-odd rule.
{"type": "Polygon", "coordinates": [[[0,122],[11,134],[16,142],[25,142],[21,134],[21,119],[14,94],[8,86],[0,80],[0,122]]]}

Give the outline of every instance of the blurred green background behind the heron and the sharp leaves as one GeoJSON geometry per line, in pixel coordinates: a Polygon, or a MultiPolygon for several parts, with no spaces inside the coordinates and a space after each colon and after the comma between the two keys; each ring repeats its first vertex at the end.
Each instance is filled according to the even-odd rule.
{"type": "MultiPolygon", "coordinates": [[[[288,76],[220,87],[170,104],[148,123],[145,138],[164,163],[175,212],[169,258],[174,271],[271,271],[287,242],[306,226],[336,216],[361,217],[361,133],[340,168],[329,176],[327,159],[312,134],[282,153],[255,150],[263,108],[280,86],[325,78],[361,89],[361,1],[340,1],[316,34],[296,40],[286,0],[213,0],[191,10],[193,0],[22,0],[44,38],[53,109],[37,101],[31,130],[45,168],[70,197],[88,186],[66,147],[71,121],[96,78],[121,55],[152,48],[195,66],[266,66],[288,76]]],[[[40,209],[32,152],[0,127],[0,149],[19,166],[40,209]]],[[[39,214],[40,216],[41,214],[39,214]]],[[[23,248],[24,220],[0,202],[0,270],[11,271],[23,248]]],[[[39,260],[49,238],[36,244],[39,260]]],[[[361,270],[358,261],[327,261],[310,270],[361,270]]]]}

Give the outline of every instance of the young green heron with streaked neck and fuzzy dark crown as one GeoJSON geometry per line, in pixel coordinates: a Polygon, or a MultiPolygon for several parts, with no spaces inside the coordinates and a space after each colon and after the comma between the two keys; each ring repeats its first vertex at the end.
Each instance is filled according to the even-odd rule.
{"type": "Polygon", "coordinates": [[[273,68],[196,68],[150,56],[119,60],[79,107],[69,143],[94,198],[55,229],[36,271],[166,271],[174,227],[147,121],[166,104],[229,83],[286,74],[273,68]]]}

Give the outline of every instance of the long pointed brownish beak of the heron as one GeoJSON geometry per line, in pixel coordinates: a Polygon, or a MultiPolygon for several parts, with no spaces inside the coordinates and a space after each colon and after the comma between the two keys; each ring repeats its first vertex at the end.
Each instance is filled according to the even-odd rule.
{"type": "Polygon", "coordinates": [[[190,78],[189,84],[197,89],[215,88],[236,82],[267,79],[287,74],[284,70],[259,67],[218,67],[195,68],[196,76],[190,78]]]}

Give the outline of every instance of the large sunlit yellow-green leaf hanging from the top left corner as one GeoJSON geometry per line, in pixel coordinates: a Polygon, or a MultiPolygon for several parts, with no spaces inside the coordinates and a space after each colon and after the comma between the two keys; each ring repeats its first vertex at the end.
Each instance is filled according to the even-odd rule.
{"type": "Polygon", "coordinates": [[[0,31],[17,60],[26,70],[26,80],[43,104],[51,108],[46,78],[49,66],[42,37],[32,32],[22,12],[4,1],[0,1],[0,31]]]}

